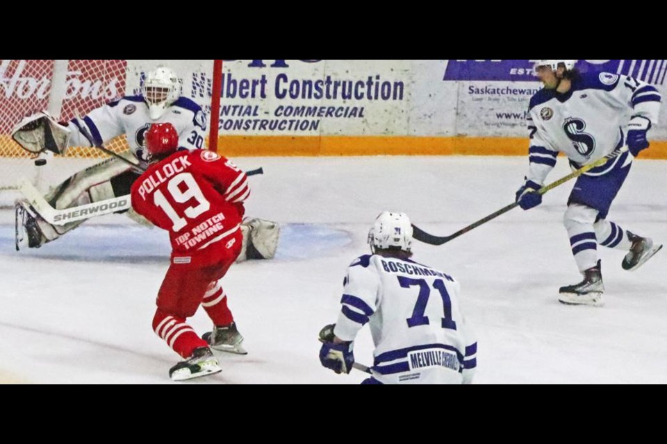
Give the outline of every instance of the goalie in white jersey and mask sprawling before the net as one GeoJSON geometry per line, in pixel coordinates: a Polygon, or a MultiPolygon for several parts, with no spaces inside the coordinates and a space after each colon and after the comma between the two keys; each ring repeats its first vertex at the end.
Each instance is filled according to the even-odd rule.
{"type": "MultiPolygon", "coordinates": [[[[32,153],[48,149],[63,154],[72,146],[100,145],[126,135],[130,149],[123,156],[146,167],[144,135],[152,123],[171,123],[179,134],[179,149],[195,150],[204,146],[206,116],[201,106],[181,97],[179,78],[166,67],[158,67],[147,73],[140,95],[125,96],[107,103],[81,119],[72,119],[66,126],[64,123],[56,123],[44,113],[28,117],[19,123],[15,139],[32,153]],[[44,125],[39,126],[37,123],[40,122],[48,125],[50,131],[47,137],[42,135],[44,125]],[[92,140],[84,135],[83,128],[92,140]]],[[[61,210],[126,196],[140,174],[141,171],[130,164],[112,157],[79,171],[60,185],[52,187],[44,197],[53,207],[61,210]]],[[[128,215],[141,223],[145,222],[133,210],[128,215]]],[[[17,205],[17,225],[22,225],[23,237],[27,238],[29,248],[38,248],[58,239],[81,223],[83,221],[51,225],[26,203],[17,205]]],[[[17,226],[17,233],[19,228],[17,226]]],[[[240,260],[269,259],[274,256],[279,236],[277,223],[252,219],[242,225],[242,231],[244,236],[240,260]]]]}

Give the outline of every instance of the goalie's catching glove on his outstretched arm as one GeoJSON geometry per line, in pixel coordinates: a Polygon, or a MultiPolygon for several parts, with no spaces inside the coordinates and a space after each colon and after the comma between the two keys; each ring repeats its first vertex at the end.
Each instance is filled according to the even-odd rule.
{"type": "Polygon", "coordinates": [[[63,154],[71,131],[60,125],[47,112],[38,112],[24,118],[12,130],[12,139],[24,150],[39,154],[44,150],[63,154]]]}

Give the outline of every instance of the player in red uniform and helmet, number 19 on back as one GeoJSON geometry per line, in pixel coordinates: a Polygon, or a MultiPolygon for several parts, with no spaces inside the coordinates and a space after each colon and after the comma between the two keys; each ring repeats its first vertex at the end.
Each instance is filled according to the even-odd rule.
{"type": "Polygon", "coordinates": [[[218,373],[221,368],[211,348],[246,353],[218,280],[241,250],[248,180],[216,153],[179,151],[179,136],[171,123],[154,123],[145,144],[150,164],[132,185],[132,205],[167,230],[172,243],[153,329],[185,359],[170,369],[172,379],[218,373]],[[204,339],[186,323],[200,304],[214,325],[204,339]]]}

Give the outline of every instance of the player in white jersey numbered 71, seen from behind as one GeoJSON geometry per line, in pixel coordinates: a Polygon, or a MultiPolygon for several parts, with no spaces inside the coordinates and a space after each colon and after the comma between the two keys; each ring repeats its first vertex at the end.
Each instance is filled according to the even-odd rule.
{"type": "Polygon", "coordinates": [[[477,342],[463,321],[459,282],[410,259],[412,226],[404,213],[381,213],[368,242],[372,255],[347,268],[338,321],[320,332],[322,365],[349,373],[354,339],[368,323],[374,364],[362,384],[469,384],[477,342]]]}

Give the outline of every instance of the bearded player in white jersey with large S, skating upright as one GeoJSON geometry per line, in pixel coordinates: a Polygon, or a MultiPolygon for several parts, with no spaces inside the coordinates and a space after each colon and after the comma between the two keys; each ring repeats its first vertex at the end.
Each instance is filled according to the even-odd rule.
{"type": "Polygon", "coordinates": [[[530,166],[516,200],[524,210],[542,202],[542,196],[533,191],[544,185],[559,152],[578,169],[627,146],[623,154],[579,176],[563,218],[584,280],[561,287],[559,301],[602,305],[604,285],[598,244],[629,251],[622,262],[629,271],[639,268],[662,247],[607,220],[632,160],[649,146],[647,133],[657,122],[661,96],[655,87],[632,77],[604,72],[580,74],[575,62],[536,62],[536,74],[544,88],[530,100],[530,166]]]}

